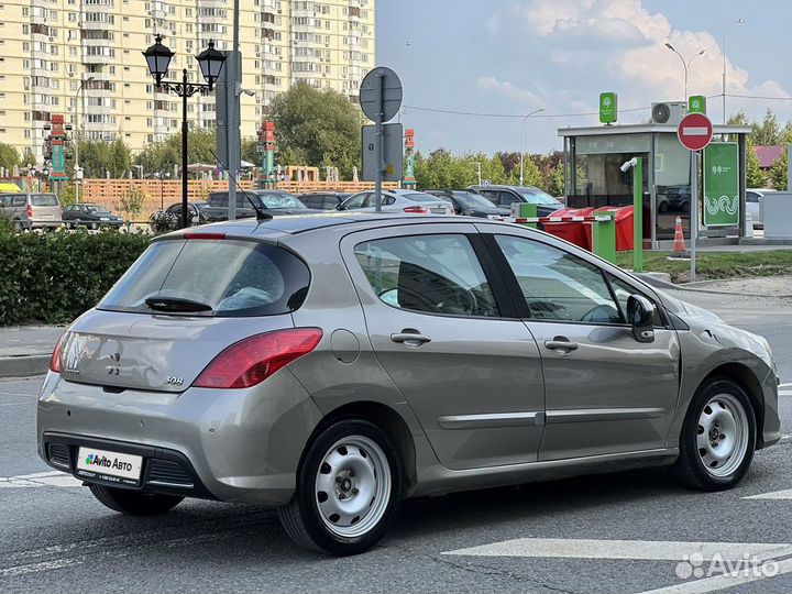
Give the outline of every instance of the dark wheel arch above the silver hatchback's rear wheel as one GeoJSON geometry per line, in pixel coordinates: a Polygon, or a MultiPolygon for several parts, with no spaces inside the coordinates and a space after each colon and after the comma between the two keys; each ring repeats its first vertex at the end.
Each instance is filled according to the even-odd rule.
{"type": "Polygon", "coordinates": [[[316,426],[300,455],[300,468],[305,461],[306,452],[316,437],[333,422],[342,419],[361,419],[380,427],[394,440],[394,444],[402,458],[405,493],[409,493],[418,482],[416,470],[416,447],[413,433],[407,421],[396,410],[382,403],[360,400],[341,405],[329,411],[316,426]]]}

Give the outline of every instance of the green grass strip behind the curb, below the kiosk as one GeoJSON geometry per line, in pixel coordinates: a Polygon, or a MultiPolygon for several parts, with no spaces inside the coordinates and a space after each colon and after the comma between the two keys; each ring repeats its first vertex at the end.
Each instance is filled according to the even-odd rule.
{"type": "MultiPolygon", "coordinates": [[[[671,275],[674,283],[690,280],[690,261],[668,260],[670,252],[644,252],[644,270],[671,275]]],[[[632,270],[632,252],[616,255],[616,264],[632,270]]],[[[696,280],[719,278],[750,278],[792,274],[792,250],[767,252],[698,252],[696,280]]]]}

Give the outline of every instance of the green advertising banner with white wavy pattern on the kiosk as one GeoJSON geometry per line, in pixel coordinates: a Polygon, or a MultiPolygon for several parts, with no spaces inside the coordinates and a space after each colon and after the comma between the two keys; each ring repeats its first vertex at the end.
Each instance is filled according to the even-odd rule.
{"type": "Polygon", "coordinates": [[[739,224],[739,151],[736,142],[704,148],[704,224],[739,224]]]}

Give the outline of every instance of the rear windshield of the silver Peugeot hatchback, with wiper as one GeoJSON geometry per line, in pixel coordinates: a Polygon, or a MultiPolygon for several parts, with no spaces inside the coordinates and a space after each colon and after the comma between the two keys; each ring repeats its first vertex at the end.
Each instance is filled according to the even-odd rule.
{"type": "Polygon", "coordinates": [[[97,306],[111,311],[187,316],[275,316],[298,309],[310,273],[282,248],[238,240],[163,240],[152,243],[97,306]],[[146,299],[200,308],[158,307],[146,299]]]}

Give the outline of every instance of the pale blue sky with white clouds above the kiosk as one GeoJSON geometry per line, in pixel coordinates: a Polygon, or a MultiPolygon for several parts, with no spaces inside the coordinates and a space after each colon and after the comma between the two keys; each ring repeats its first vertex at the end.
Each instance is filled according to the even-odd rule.
{"type": "Polygon", "coordinates": [[[689,95],[710,97],[721,123],[727,28],[726,94],[761,98],[727,97],[727,114],[771,108],[785,123],[791,20],[789,0],[376,0],[376,62],[399,73],[403,123],[421,152],[519,151],[524,116],[541,109],[525,120],[524,147],[546,153],[562,148],[559,128],[600,125],[600,92],[618,94],[619,123],[684,100],[667,42],[693,58],[689,95]]]}

